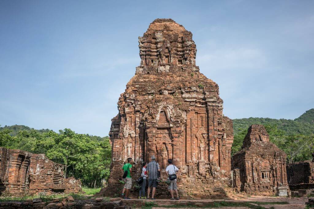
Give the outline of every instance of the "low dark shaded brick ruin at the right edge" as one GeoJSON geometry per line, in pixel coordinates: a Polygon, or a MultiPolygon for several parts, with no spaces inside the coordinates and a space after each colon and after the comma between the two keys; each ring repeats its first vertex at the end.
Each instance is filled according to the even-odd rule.
{"type": "Polygon", "coordinates": [[[312,161],[288,164],[287,178],[292,191],[314,189],[314,156],[312,161]]]}

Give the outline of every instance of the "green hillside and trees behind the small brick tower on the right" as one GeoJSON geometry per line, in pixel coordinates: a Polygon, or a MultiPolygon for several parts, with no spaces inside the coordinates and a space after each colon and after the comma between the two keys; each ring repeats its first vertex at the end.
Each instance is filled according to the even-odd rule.
{"type": "Polygon", "coordinates": [[[233,119],[232,155],[241,149],[247,129],[252,124],[265,126],[270,141],[287,154],[288,163],[311,160],[314,152],[314,109],[295,120],[272,118],[233,119]]]}

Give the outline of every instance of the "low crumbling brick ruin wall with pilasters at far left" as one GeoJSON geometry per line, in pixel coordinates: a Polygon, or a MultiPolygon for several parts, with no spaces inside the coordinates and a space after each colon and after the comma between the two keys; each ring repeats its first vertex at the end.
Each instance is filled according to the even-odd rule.
{"type": "Polygon", "coordinates": [[[80,180],[64,179],[63,170],[64,165],[52,162],[45,154],[0,147],[0,195],[81,191],[80,180]]]}

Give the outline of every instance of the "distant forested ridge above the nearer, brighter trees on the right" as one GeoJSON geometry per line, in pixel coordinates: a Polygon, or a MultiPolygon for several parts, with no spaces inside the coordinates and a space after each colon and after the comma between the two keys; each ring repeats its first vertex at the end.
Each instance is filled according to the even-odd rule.
{"type": "Polygon", "coordinates": [[[273,124],[286,134],[313,134],[314,133],[314,109],[310,109],[294,120],[272,118],[242,118],[233,119],[233,129],[236,135],[252,124],[273,124]]]}

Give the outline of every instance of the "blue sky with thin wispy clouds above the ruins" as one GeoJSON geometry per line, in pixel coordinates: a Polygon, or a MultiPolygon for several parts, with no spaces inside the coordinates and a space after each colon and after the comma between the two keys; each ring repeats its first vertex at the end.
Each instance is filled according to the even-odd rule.
{"type": "Polygon", "coordinates": [[[156,18],[193,33],[230,118],[314,108],[314,1],[0,1],[0,124],[108,135],[156,18]]]}

